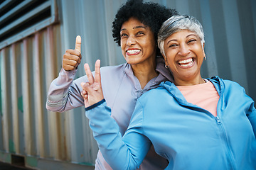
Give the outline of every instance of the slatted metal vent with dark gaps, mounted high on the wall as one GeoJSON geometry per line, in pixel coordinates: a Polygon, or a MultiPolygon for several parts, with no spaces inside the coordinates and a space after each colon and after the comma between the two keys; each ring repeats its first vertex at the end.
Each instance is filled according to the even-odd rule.
{"type": "MultiPolygon", "coordinates": [[[[0,8],[9,8],[9,6],[13,6],[15,2],[16,1],[4,1],[1,4],[0,8]]],[[[50,26],[51,24],[56,23],[58,21],[58,12],[55,0],[45,1],[40,6],[34,7],[31,9],[31,11],[29,11],[29,8],[26,7],[30,6],[33,3],[36,3],[36,1],[23,1],[21,2],[21,4],[18,4],[18,6],[14,6],[14,8],[11,8],[10,11],[8,11],[7,13],[4,13],[3,16],[0,16],[0,24],[2,25],[0,28],[0,35],[1,38],[4,39],[0,41],[0,49],[8,45],[11,45],[12,43],[17,42],[18,40],[22,40],[23,38],[26,38],[28,35],[36,33],[38,30],[41,30],[46,26],[50,26]],[[50,8],[50,16],[48,16],[48,18],[40,19],[40,16],[38,16],[38,14],[43,11],[46,11],[47,8],[50,8]],[[14,14],[18,16],[15,16],[14,14]],[[24,28],[24,25],[27,26],[28,23],[33,23],[33,19],[35,18],[39,18],[40,21],[34,23],[33,26],[24,28]],[[11,22],[4,23],[5,21],[11,22]],[[11,31],[14,31],[14,33],[11,33],[11,31]],[[6,38],[2,37],[5,35],[7,35],[6,38]]]]}

